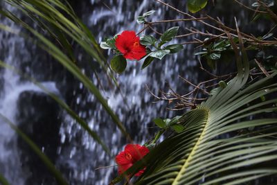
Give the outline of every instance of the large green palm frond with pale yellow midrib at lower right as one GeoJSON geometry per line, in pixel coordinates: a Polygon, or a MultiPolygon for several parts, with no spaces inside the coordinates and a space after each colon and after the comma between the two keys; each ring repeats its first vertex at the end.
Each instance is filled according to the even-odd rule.
{"type": "Polygon", "coordinates": [[[249,62],[242,44],[238,75],[180,119],[185,130],[161,142],[114,179],[146,166],[134,184],[243,184],[277,174],[277,71],[247,82],[249,62]],[[262,101],[261,96],[267,97],[262,101]]]}

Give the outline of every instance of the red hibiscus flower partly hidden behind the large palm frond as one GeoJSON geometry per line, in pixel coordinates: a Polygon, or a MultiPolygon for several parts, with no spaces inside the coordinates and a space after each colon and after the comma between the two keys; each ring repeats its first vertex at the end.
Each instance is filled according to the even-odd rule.
{"type": "MultiPolygon", "coordinates": [[[[120,152],[116,156],[116,164],[118,164],[118,173],[121,174],[125,172],[128,168],[133,166],[136,161],[142,159],[145,155],[147,155],[149,149],[145,146],[140,146],[138,144],[127,144],[125,146],[124,151],[120,152]]],[[[135,176],[140,176],[143,174],[145,168],[140,170],[135,176]]]]}

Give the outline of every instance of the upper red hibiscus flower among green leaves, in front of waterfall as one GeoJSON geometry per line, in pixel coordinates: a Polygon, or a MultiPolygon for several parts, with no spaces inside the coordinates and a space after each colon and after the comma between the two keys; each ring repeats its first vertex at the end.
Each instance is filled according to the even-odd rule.
{"type": "Polygon", "coordinates": [[[116,37],[116,48],[129,60],[140,60],[146,55],[145,46],[139,42],[134,31],[125,30],[116,37]]]}

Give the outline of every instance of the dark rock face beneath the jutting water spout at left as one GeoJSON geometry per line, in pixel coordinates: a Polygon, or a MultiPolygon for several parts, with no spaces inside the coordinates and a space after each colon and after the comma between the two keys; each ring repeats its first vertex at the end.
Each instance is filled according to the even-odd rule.
{"type": "MultiPolygon", "coordinates": [[[[46,94],[25,91],[17,102],[19,129],[27,134],[55,164],[57,146],[60,144],[60,107],[46,94]]],[[[26,184],[55,184],[55,179],[28,144],[18,137],[18,147],[23,168],[30,177],[26,184]]]]}

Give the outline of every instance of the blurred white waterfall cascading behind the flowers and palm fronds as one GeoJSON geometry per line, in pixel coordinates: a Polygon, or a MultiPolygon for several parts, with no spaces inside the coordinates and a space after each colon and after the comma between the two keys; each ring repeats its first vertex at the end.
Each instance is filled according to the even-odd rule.
{"type": "MultiPolygon", "coordinates": [[[[136,17],[148,10],[156,10],[150,18],[153,20],[161,20],[165,17],[166,19],[183,18],[176,12],[167,11],[168,8],[165,6],[150,0],[91,0],[71,1],[71,3],[84,23],[98,38],[98,42],[122,30],[138,32],[142,26],[136,24],[136,17]]],[[[186,1],[172,0],[168,3],[181,10],[186,7],[186,1]]],[[[5,5],[5,8],[10,7],[5,5]]],[[[19,30],[19,27],[11,21],[4,18],[0,20],[1,24],[7,24],[19,30]]],[[[181,24],[186,27],[192,25],[196,26],[195,22],[181,24]]],[[[168,27],[166,24],[161,24],[158,29],[166,30],[168,27]]],[[[201,25],[198,27],[203,29],[201,25]]],[[[184,32],[184,29],[181,28],[180,31],[184,32]]],[[[181,39],[174,42],[181,42],[181,39]]],[[[153,98],[145,90],[145,84],[157,93],[159,89],[166,89],[166,82],[168,82],[172,89],[182,92],[190,90],[190,87],[181,82],[178,75],[195,83],[206,75],[197,73],[198,63],[192,55],[193,51],[193,46],[187,45],[179,54],[166,57],[165,60],[154,61],[143,71],[141,71],[142,62],[128,62],[127,71],[118,76],[120,89],[123,91],[128,106],[123,103],[120,93],[109,87],[105,74],[99,73],[105,89],[102,90],[102,94],[108,99],[109,106],[119,116],[120,121],[125,124],[135,143],[143,143],[150,139],[154,132],[150,128],[153,126],[151,123],[153,118],[170,118],[176,114],[176,112],[166,110],[165,103],[152,104],[153,98]]],[[[115,156],[123,149],[126,144],[125,138],[107,116],[105,110],[94,96],[87,93],[80,82],[64,72],[60,64],[53,62],[51,58],[44,57],[44,52],[36,46],[30,46],[26,40],[2,30],[0,31],[0,52],[1,60],[29,73],[49,90],[59,94],[81,118],[89,123],[92,130],[98,132],[101,139],[109,146],[112,155],[115,156]]],[[[107,58],[110,59],[111,55],[112,53],[108,52],[107,58]]],[[[85,69],[85,65],[90,61],[81,53],[77,53],[76,56],[78,60],[85,61],[82,62],[85,69]]],[[[39,146],[43,151],[45,150],[46,154],[51,155],[52,161],[70,184],[108,184],[112,177],[116,177],[116,167],[95,170],[100,166],[114,165],[114,156],[109,157],[105,154],[89,134],[84,132],[64,111],[55,107],[55,103],[51,102],[39,88],[19,78],[8,69],[0,70],[2,87],[0,89],[0,113],[10,118],[39,142],[39,146]],[[37,135],[42,137],[36,138],[37,135]]],[[[91,76],[91,80],[99,85],[95,76],[91,76]]],[[[28,157],[30,150],[26,150],[17,138],[17,134],[2,122],[0,121],[0,173],[11,184],[55,184],[54,179],[44,177],[44,170],[36,164],[39,161],[28,157]]]]}

